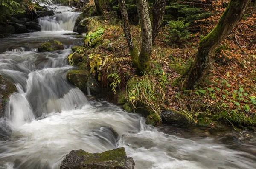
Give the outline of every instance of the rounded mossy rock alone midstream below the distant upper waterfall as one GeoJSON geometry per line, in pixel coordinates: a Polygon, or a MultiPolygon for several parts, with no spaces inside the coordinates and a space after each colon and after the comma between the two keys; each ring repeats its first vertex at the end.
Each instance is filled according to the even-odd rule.
{"type": "Polygon", "coordinates": [[[39,52],[50,52],[56,50],[63,50],[64,46],[58,40],[50,40],[48,42],[43,43],[39,48],[39,52]]]}

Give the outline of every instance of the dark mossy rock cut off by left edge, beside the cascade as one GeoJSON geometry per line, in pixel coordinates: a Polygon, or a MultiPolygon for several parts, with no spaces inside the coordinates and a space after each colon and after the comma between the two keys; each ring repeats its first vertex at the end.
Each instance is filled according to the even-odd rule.
{"type": "Polygon", "coordinates": [[[0,76],[0,118],[4,116],[9,96],[14,92],[17,92],[15,85],[0,76]]]}

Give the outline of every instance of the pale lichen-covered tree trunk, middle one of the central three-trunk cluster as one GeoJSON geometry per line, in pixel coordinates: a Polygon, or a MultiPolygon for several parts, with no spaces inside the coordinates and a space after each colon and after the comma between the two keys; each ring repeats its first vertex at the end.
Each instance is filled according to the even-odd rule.
{"type": "Polygon", "coordinates": [[[149,70],[149,61],[152,48],[152,28],[148,12],[147,0],[136,0],[138,15],[141,27],[141,50],[137,71],[139,74],[146,73],[149,70]]]}

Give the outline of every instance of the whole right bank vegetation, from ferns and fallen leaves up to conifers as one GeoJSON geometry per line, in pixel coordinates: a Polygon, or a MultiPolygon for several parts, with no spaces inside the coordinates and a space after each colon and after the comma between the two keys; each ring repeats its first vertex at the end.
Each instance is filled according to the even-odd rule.
{"type": "MultiPolygon", "coordinates": [[[[152,3],[148,3],[149,14],[152,3]]],[[[200,85],[188,90],[183,79],[192,66],[200,39],[217,25],[228,3],[167,1],[160,33],[152,47],[150,70],[137,75],[131,57],[134,54],[122,29],[119,4],[106,2],[104,12],[99,15],[93,10],[98,7],[89,1],[75,28],[86,33],[82,38],[84,46],[72,48],[74,53],[70,54],[68,62],[79,66],[79,70],[73,70],[76,73],[90,72],[96,80],[92,84],[99,86],[103,93],[111,90],[109,94],[116,104],[123,105],[129,112],[145,115],[147,124],[162,124],[166,121],[163,119],[168,118],[164,112],[172,110],[189,119],[188,123],[255,130],[256,15],[253,3],[227,38],[214,48],[212,64],[200,85]]],[[[139,49],[142,41],[139,18],[135,17],[137,6],[132,1],[125,6],[134,48],[139,49]]],[[[75,72],[73,74],[75,76],[75,72]]],[[[87,78],[82,79],[85,87],[87,78]]]]}

